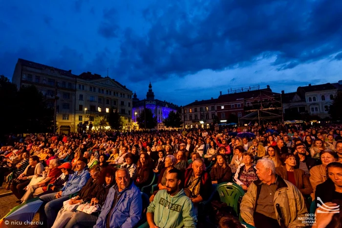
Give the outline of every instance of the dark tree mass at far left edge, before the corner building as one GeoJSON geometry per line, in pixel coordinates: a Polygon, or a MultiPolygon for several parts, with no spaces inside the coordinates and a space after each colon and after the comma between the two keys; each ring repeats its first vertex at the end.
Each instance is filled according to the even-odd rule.
{"type": "Polygon", "coordinates": [[[35,86],[17,86],[0,76],[0,137],[9,133],[52,132],[53,114],[42,93],[35,86]]]}

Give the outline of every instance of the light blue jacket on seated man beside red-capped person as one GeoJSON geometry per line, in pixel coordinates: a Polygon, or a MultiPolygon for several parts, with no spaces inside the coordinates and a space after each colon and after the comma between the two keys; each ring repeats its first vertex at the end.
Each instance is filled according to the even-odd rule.
{"type": "Polygon", "coordinates": [[[90,173],[88,170],[84,169],[80,175],[78,175],[78,171],[76,171],[61,189],[61,191],[63,191],[62,196],[68,196],[80,191],[89,178],[90,173]]]}

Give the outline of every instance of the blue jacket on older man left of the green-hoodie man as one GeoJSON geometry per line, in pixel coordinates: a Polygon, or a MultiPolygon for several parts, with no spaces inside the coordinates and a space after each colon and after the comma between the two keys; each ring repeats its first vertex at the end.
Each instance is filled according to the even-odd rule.
{"type": "Polygon", "coordinates": [[[112,213],[108,215],[110,216],[110,228],[132,228],[141,219],[143,201],[140,189],[132,182],[126,190],[118,192],[117,185],[115,185],[109,189],[106,202],[102,206],[99,218],[93,228],[106,228],[107,214],[113,205],[115,191],[118,193],[118,196],[121,194],[121,197],[112,213]]]}

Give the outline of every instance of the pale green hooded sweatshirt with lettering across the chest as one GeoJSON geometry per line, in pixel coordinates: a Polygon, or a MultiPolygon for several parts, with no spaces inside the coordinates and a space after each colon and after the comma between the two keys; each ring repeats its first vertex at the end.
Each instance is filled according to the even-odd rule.
{"type": "Polygon", "coordinates": [[[166,190],[159,190],[147,212],[154,213],[154,223],[160,228],[195,228],[197,224],[192,201],[183,189],[173,197],[166,190]]]}

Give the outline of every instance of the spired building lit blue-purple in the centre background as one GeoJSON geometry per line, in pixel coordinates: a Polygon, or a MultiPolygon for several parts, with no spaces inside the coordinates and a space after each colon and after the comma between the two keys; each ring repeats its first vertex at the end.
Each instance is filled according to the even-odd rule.
{"type": "Polygon", "coordinates": [[[169,113],[171,111],[177,112],[179,107],[175,104],[160,101],[154,98],[154,92],[152,91],[152,85],[149,84],[149,91],[146,94],[146,99],[139,100],[137,98],[136,93],[133,95],[133,109],[132,109],[132,120],[133,120],[133,129],[139,129],[137,124],[137,117],[139,117],[140,113],[144,110],[144,108],[149,108],[152,111],[153,117],[157,117],[157,126],[156,129],[165,129],[163,121],[168,118],[169,113]]]}

